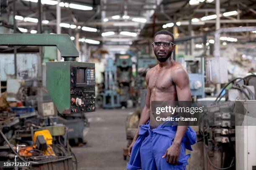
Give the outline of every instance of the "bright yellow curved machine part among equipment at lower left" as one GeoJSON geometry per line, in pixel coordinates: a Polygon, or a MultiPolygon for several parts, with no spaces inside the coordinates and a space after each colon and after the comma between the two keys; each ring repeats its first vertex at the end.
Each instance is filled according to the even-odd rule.
{"type": "Polygon", "coordinates": [[[52,147],[52,136],[51,136],[51,133],[49,132],[49,130],[39,130],[34,133],[33,148],[36,148],[36,138],[37,138],[37,136],[40,136],[40,135],[44,136],[44,140],[46,141],[46,144],[47,144],[47,150],[44,150],[44,154],[55,156],[55,153],[51,148],[52,147]]]}

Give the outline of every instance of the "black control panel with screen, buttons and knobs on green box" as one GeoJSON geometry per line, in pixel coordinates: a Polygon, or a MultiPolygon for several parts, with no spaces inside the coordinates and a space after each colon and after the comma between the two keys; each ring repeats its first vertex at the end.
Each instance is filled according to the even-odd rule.
{"type": "Polygon", "coordinates": [[[95,111],[95,67],[71,66],[70,87],[72,113],[95,111]]]}

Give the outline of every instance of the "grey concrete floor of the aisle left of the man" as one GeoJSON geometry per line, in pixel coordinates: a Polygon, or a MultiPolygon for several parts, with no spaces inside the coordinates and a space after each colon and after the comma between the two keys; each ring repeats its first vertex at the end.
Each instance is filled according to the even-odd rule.
{"type": "Polygon", "coordinates": [[[135,109],[99,109],[86,113],[90,127],[87,144],[72,147],[78,170],[126,170],[123,148],[127,145],[125,120],[135,109]]]}

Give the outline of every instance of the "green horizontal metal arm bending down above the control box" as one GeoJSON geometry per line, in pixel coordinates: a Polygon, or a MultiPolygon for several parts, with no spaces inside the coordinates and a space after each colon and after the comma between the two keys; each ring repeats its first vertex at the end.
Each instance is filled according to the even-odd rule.
{"type": "Polygon", "coordinates": [[[74,61],[79,52],[67,34],[0,34],[0,46],[56,46],[65,61],[74,61]]]}

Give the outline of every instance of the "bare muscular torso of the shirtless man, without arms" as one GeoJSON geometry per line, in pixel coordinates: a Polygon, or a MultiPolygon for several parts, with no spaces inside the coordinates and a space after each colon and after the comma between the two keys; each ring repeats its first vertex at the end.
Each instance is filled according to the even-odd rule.
{"type": "MultiPolygon", "coordinates": [[[[151,68],[148,71],[148,89],[151,92],[150,97],[150,110],[152,101],[177,101],[176,86],[172,80],[172,72],[174,69],[182,67],[181,64],[174,61],[172,65],[160,68],[159,65],[151,68]]],[[[183,67],[182,67],[183,68],[183,67]]],[[[161,117],[167,117],[169,115],[161,115],[161,117]]],[[[158,126],[159,123],[154,118],[154,115],[150,114],[150,125],[158,126]]]]}

